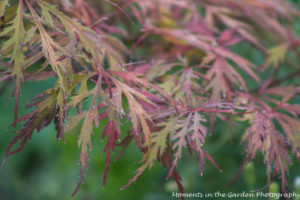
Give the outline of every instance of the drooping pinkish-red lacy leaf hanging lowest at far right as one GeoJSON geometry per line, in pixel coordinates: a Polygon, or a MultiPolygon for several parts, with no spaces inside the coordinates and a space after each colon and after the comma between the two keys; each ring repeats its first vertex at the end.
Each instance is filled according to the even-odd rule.
{"type": "Polygon", "coordinates": [[[288,164],[291,164],[287,152],[287,139],[280,134],[272,122],[272,116],[265,111],[257,111],[249,131],[243,140],[246,142],[246,152],[249,160],[252,160],[257,151],[262,152],[267,165],[268,183],[271,182],[271,173],[280,174],[281,188],[286,188],[286,174],[288,164]]]}

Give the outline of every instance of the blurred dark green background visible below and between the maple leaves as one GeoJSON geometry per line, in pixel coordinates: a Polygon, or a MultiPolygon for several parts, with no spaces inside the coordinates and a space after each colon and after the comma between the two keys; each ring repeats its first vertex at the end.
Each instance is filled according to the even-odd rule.
{"type": "MultiPolygon", "coordinates": [[[[294,1],[300,8],[300,1],[294,1]]],[[[300,21],[294,27],[296,35],[300,35],[300,21]]],[[[247,44],[236,45],[235,50],[240,52],[257,65],[262,64],[262,56],[257,51],[248,48],[247,44]]],[[[137,52],[141,54],[142,52],[137,52]]],[[[288,55],[289,56],[289,55],[288,55]]],[[[295,59],[293,57],[291,60],[295,59]]],[[[298,64],[299,67],[299,64],[298,64]]],[[[294,69],[283,68],[281,76],[290,73],[294,69]]],[[[292,80],[300,85],[300,77],[292,80]]],[[[25,105],[30,98],[47,88],[50,88],[54,80],[42,83],[24,83],[22,86],[20,114],[28,110],[25,105]]],[[[0,96],[0,160],[3,159],[5,149],[13,137],[13,129],[9,125],[13,121],[12,98],[13,85],[1,83],[3,93],[0,96]]],[[[300,100],[299,102],[300,103],[300,100]]],[[[90,152],[89,169],[85,182],[79,193],[71,198],[71,194],[78,181],[79,149],[77,138],[79,128],[66,135],[66,142],[56,141],[54,125],[45,128],[38,134],[33,134],[32,140],[23,151],[8,158],[5,167],[0,171],[0,200],[165,200],[172,199],[172,192],[177,191],[176,184],[172,180],[166,180],[167,171],[156,163],[151,170],[146,172],[131,187],[120,190],[134,171],[140,166],[141,159],[137,147],[129,146],[120,160],[112,162],[105,187],[102,187],[104,172],[104,154],[102,153],[105,141],[101,141],[101,126],[94,130],[93,150],[90,152]]],[[[212,135],[207,138],[205,150],[215,159],[223,172],[218,172],[211,163],[207,162],[205,173],[200,176],[199,164],[196,158],[183,156],[179,163],[178,171],[183,178],[185,192],[250,192],[261,188],[266,184],[266,167],[261,155],[250,163],[244,173],[235,184],[226,186],[236,175],[243,161],[243,145],[240,144],[241,135],[244,133],[247,123],[239,126],[233,125],[232,137],[228,125],[218,121],[212,135]]],[[[124,131],[128,128],[124,123],[124,131]]],[[[116,149],[113,157],[116,157],[120,149],[116,149]]],[[[294,161],[290,166],[288,176],[289,192],[300,194],[300,167],[294,161]]],[[[280,192],[280,181],[273,182],[271,191],[280,192]]],[[[214,198],[217,199],[217,198],[214,198]]],[[[245,198],[246,199],[246,198],[245,198]]]]}

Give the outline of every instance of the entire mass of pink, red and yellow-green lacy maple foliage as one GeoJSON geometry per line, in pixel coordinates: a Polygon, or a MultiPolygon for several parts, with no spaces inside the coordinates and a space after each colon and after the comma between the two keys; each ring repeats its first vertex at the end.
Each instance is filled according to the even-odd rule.
{"type": "Polygon", "coordinates": [[[122,188],[158,161],[183,192],[176,166],[184,149],[199,160],[201,174],[206,159],[221,171],[204,146],[219,118],[229,127],[249,122],[241,135],[240,172],[260,152],[264,188],[278,177],[286,192],[290,157],[300,162],[300,88],[291,81],[299,71],[281,76],[283,68],[298,67],[290,57],[300,59],[300,38],[291,28],[299,12],[288,1],[2,0],[0,16],[0,80],[4,87],[15,84],[16,135],[3,164],[52,122],[58,140],[80,125],[74,196],[93,128],[103,121],[103,185],[111,152],[120,148],[119,158],[135,143],[141,166],[122,188]],[[240,43],[257,50],[264,63],[236,51],[240,43]],[[53,87],[36,94],[28,114],[19,116],[22,82],[50,78],[53,87]],[[131,125],[128,132],[121,131],[124,123],[131,125]]]}

